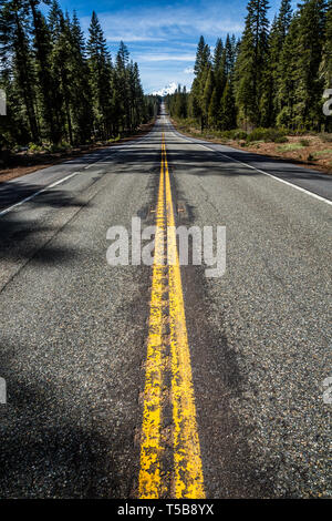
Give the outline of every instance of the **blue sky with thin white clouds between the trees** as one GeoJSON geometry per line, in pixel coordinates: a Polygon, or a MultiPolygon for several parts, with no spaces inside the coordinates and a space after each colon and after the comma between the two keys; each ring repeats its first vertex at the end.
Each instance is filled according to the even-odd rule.
{"type": "MultiPolygon", "coordinates": [[[[76,10],[87,31],[92,10],[102,23],[114,57],[123,40],[138,62],[146,93],[169,83],[190,88],[197,41],[204,34],[212,47],[227,32],[240,35],[247,0],[60,0],[63,10],[76,10]]],[[[270,18],[280,0],[271,0],[270,18]]]]}

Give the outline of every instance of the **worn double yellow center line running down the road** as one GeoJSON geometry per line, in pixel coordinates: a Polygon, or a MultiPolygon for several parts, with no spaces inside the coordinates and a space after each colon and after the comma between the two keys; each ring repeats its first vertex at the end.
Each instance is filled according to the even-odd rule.
{"type": "Polygon", "coordinates": [[[205,498],[204,479],[164,134],[156,227],[138,493],[142,499],[199,499],[205,498]],[[170,391],[165,378],[168,368],[170,391]],[[173,411],[170,466],[164,458],[167,401],[173,411]]]}

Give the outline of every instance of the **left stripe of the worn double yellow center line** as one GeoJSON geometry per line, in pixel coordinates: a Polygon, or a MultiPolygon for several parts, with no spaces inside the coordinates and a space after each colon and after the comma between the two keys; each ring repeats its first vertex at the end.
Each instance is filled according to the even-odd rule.
{"type": "Polygon", "coordinates": [[[141,471],[138,493],[142,499],[157,499],[162,490],[160,478],[160,398],[163,376],[163,293],[164,293],[164,161],[162,159],[157,205],[157,229],[151,296],[147,341],[144,411],[141,441],[141,471]]]}

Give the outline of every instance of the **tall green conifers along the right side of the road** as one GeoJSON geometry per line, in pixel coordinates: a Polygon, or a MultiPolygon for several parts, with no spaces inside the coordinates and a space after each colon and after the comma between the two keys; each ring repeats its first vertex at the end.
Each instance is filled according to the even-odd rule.
{"type": "Polygon", "coordinates": [[[190,93],[178,86],[167,104],[201,130],[284,127],[332,131],[323,93],[332,89],[332,0],[281,0],[272,23],[268,0],[250,0],[242,37],[200,37],[190,93]]]}

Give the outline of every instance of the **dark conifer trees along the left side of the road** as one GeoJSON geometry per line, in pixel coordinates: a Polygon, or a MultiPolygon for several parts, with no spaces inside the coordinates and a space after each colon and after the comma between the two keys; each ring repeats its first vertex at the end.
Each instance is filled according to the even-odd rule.
{"type": "Polygon", "coordinates": [[[132,132],[155,114],[137,63],[121,42],[114,62],[95,12],[85,40],[75,11],[58,0],[2,0],[0,88],[7,116],[2,146],[84,144],[132,132]],[[49,4],[48,16],[41,4],[49,4]]]}

